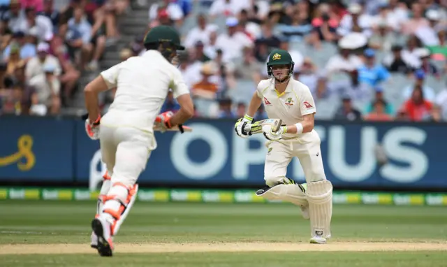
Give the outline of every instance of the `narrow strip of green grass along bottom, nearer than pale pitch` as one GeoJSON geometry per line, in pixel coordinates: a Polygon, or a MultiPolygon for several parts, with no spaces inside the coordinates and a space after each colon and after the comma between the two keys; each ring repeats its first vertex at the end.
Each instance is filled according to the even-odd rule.
{"type": "Polygon", "coordinates": [[[1,266],[157,266],[157,267],[439,267],[445,252],[251,252],[119,254],[105,259],[93,254],[1,256],[1,266]]]}

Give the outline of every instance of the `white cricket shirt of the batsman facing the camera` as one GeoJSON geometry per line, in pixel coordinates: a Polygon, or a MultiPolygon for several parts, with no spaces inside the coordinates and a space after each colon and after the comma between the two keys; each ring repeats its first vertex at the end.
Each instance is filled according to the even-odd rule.
{"type": "MultiPolygon", "coordinates": [[[[263,99],[265,112],[271,119],[281,119],[283,124],[291,125],[302,122],[302,116],[316,113],[315,102],[309,87],[298,80],[291,78],[286,91],[278,94],[274,87],[274,78],[261,80],[256,90],[258,96],[263,99]]],[[[304,137],[307,133],[283,134],[285,139],[304,137]]]]}

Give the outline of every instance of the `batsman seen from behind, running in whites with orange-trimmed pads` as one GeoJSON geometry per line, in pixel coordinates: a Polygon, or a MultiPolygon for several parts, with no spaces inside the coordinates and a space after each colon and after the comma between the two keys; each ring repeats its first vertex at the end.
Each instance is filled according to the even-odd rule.
{"type": "Polygon", "coordinates": [[[193,116],[189,89],[171,63],[177,50],[184,50],[177,31],[154,27],[146,34],[144,45],[147,51],[142,56],[112,66],[85,87],[86,131],[91,139],[99,139],[107,168],[97,215],[91,222],[91,245],[106,257],[112,256],[113,237],[135,201],[138,176],[157,147],[154,121],[166,130],[193,116]],[[113,87],[117,87],[115,100],[101,117],[98,94],[113,87]],[[159,115],[169,89],[180,109],[159,115]]]}

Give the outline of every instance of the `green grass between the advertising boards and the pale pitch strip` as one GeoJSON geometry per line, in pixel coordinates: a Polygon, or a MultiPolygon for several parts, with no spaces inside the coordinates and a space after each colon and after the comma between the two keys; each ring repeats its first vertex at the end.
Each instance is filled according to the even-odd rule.
{"type": "MultiPolygon", "coordinates": [[[[1,243],[86,243],[91,201],[0,201],[1,243]]],[[[335,205],[333,240],[445,240],[447,208],[335,205]]],[[[137,202],[118,242],[268,241],[309,238],[309,221],[288,204],[137,202]]]]}

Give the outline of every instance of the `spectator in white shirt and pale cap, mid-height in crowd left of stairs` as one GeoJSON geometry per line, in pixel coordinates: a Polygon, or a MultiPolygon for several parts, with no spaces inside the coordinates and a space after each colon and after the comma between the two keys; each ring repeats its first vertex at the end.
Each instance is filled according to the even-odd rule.
{"type": "Polygon", "coordinates": [[[25,76],[27,80],[31,80],[37,75],[44,73],[43,66],[54,66],[54,75],[61,75],[61,66],[59,60],[50,55],[50,45],[47,43],[39,43],[37,46],[37,56],[29,59],[27,67],[25,68],[25,76]]]}

